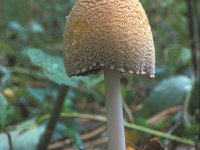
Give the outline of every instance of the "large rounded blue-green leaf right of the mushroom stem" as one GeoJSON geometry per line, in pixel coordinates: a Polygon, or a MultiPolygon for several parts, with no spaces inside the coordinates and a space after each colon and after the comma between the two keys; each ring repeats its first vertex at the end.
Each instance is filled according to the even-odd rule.
{"type": "Polygon", "coordinates": [[[172,106],[183,104],[192,86],[193,81],[187,76],[166,79],[153,89],[142,111],[153,115],[172,106]]]}

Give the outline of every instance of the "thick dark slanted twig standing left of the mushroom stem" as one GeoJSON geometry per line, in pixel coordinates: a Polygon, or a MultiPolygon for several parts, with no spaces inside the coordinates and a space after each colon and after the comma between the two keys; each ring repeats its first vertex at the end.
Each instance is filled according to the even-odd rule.
{"type": "Polygon", "coordinates": [[[60,112],[62,109],[62,105],[64,103],[65,96],[67,94],[67,89],[68,89],[67,86],[62,86],[60,88],[58,99],[54,106],[54,110],[52,111],[46,131],[45,131],[44,135],[41,137],[40,143],[38,145],[38,150],[46,150],[47,149],[49,141],[51,140],[52,133],[53,133],[56,123],[58,121],[58,118],[59,118],[59,115],[60,115],[60,112]]]}

